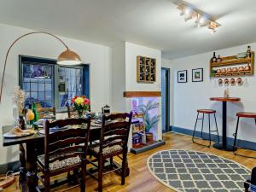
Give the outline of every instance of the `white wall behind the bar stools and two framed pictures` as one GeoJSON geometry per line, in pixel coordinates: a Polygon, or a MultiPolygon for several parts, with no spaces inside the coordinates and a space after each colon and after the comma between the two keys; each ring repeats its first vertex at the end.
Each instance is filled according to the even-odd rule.
{"type": "MultiPolygon", "coordinates": [[[[251,45],[252,49],[256,49],[256,44],[251,45]]],[[[246,51],[246,49],[247,44],[244,44],[229,49],[217,50],[217,55],[236,55],[239,52],[246,51]]],[[[219,132],[222,133],[222,102],[211,102],[209,98],[224,96],[224,87],[218,86],[218,78],[209,78],[210,58],[212,58],[212,52],[184,57],[166,64],[166,67],[170,67],[172,70],[172,125],[192,130],[195,125],[196,109],[212,108],[217,110],[219,132]],[[204,69],[204,81],[192,82],[191,70],[201,67],[204,69]],[[188,83],[177,83],[178,70],[188,70],[188,83]]],[[[230,96],[240,97],[241,102],[228,102],[228,137],[232,137],[235,131],[237,112],[256,112],[256,77],[247,76],[242,79],[245,80],[245,84],[242,86],[229,86],[230,96]]],[[[205,123],[207,125],[207,121],[205,123]]],[[[256,127],[253,119],[241,120],[239,138],[252,142],[256,141],[256,127]]]]}

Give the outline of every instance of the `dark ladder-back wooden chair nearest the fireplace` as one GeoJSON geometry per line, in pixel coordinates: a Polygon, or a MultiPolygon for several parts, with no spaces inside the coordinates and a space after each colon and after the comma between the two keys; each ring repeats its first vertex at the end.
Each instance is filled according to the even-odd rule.
{"type": "Polygon", "coordinates": [[[121,184],[125,184],[125,171],[127,165],[127,143],[131,127],[131,113],[114,113],[106,116],[102,115],[102,130],[99,143],[93,144],[89,148],[89,154],[96,159],[91,160],[93,166],[97,161],[98,168],[98,191],[102,192],[102,177],[105,160],[109,159],[111,166],[113,165],[113,157],[118,156],[122,160],[122,166],[113,169],[110,172],[121,171],[121,184]],[[122,157],[119,156],[122,154],[122,157]]]}

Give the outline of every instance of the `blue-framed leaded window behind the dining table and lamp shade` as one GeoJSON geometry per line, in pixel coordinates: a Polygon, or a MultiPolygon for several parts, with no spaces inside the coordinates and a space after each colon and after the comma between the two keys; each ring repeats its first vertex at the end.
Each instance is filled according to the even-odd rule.
{"type": "Polygon", "coordinates": [[[20,87],[26,90],[26,108],[66,108],[75,95],[89,97],[89,65],[63,67],[54,60],[20,55],[20,87]]]}

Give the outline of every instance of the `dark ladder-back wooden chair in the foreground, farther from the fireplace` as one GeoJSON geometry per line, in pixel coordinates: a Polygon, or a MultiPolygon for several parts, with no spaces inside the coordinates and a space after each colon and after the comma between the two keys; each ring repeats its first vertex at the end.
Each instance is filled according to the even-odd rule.
{"type": "Polygon", "coordinates": [[[63,172],[78,171],[81,168],[81,191],[85,191],[86,155],[90,135],[90,119],[61,119],[44,125],[44,154],[38,156],[38,169],[43,177],[38,178],[44,184],[44,191],[49,192],[50,177],[63,172]],[[67,128],[49,133],[49,128],[80,125],[80,129],[67,128]]]}

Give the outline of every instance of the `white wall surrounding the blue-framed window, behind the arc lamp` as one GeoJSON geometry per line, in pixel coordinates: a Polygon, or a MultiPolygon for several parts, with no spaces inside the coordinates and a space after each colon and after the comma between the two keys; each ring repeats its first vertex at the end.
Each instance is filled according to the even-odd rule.
{"type": "MultiPolygon", "coordinates": [[[[0,77],[3,75],[3,61],[10,44],[20,35],[31,30],[16,26],[0,24],[0,77]]],[[[91,44],[71,38],[61,39],[77,52],[84,63],[90,63],[90,100],[93,111],[100,111],[102,106],[110,103],[110,61],[111,51],[107,46],[91,44]]],[[[45,58],[57,58],[64,50],[64,47],[55,39],[44,34],[35,34],[20,39],[18,44],[11,50],[7,63],[6,76],[3,85],[3,97],[0,105],[0,127],[2,125],[12,125],[12,102],[11,91],[18,84],[18,55],[32,55],[45,58]]],[[[2,136],[2,129],[0,129],[2,136]]],[[[19,151],[17,147],[3,147],[2,137],[0,137],[0,164],[18,160],[19,151]]]]}

